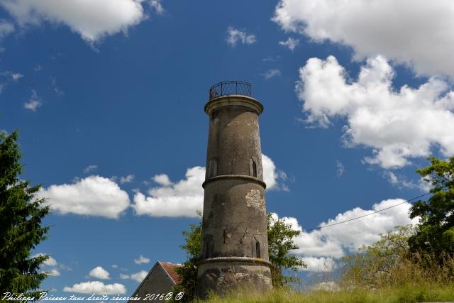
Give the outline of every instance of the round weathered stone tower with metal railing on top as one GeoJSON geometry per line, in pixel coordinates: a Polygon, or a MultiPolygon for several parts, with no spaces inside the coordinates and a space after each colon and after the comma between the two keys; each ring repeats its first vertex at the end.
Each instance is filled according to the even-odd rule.
{"type": "Polygon", "coordinates": [[[272,287],[258,127],[262,111],[247,82],[221,82],[209,90],[199,297],[210,290],[272,287]]]}

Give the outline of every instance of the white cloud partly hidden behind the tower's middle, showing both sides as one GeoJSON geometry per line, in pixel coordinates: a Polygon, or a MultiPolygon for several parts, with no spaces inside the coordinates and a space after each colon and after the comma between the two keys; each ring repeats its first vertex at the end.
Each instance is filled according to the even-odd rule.
{"type": "MultiPolygon", "coordinates": [[[[284,184],[287,175],[276,169],[271,158],[262,155],[262,165],[267,189],[288,190],[284,184]]],[[[204,189],[201,184],[205,180],[205,167],[189,168],[184,179],[175,183],[164,174],[155,175],[153,180],[159,186],[148,190],[148,197],[141,192],[135,193],[132,206],[136,214],[196,217],[196,211],[203,209],[204,189]]]]}

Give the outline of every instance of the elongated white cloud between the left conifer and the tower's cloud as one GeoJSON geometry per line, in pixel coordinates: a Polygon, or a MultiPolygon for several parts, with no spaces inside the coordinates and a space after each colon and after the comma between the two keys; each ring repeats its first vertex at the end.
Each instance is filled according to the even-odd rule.
{"type": "Polygon", "coordinates": [[[39,195],[48,198],[46,203],[61,214],[118,218],[129,206],[128,194],[118,184],[95,175],[72,184],[50,185],[39,195]]]}

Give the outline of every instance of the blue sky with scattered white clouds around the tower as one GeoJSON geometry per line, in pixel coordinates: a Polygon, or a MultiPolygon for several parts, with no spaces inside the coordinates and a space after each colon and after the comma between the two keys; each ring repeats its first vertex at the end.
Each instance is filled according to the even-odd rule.
{"type": "MultiPolygon", "coordinates": [[[[423,194],[416,168],[454,154],[449,0],[0,7],[0,128],[20,131],[22,178],[52,204],[35,253],[52,255],[54,294],[132,294],[157,260],[184,261],[216,82],[248,81],[265,106],[267,210],[300,230],[423,194]]],[[[301,232],[304,272],[411,223],[408,209],[301,232]]]]}

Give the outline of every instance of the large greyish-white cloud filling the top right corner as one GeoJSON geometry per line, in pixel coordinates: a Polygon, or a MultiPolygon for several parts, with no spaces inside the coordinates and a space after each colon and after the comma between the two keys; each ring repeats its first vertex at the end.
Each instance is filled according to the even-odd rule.
{"type": "Polygon", "coordinates": [[[273,20],[284,31],[353,47],[358,59],[385,55],[416,72],[454,76],[450,0],[281,0],[273,20]]]}

